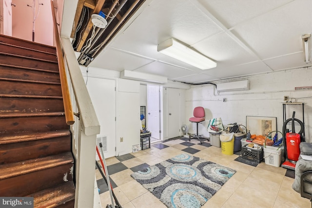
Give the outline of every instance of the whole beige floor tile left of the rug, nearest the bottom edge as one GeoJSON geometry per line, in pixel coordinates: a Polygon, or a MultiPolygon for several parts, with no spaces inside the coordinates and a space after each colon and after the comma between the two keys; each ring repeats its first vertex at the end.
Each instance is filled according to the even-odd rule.
{"type": "Polygon", "coordinates": [[[119,186],[119,188],[130,200],[133,200],[148,191],[137,181],[130,181],[128,183],[119,186]]]}

